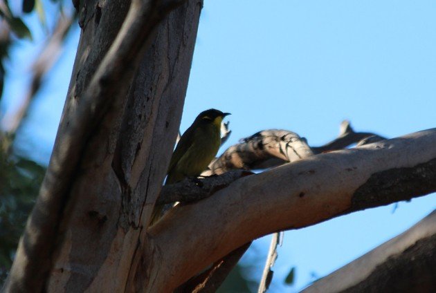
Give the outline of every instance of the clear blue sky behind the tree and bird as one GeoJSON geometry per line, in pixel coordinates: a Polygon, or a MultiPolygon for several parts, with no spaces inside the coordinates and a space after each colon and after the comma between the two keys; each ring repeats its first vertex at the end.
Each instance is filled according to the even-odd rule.
{"type": "MultiPolygon", "coordinates": [[[[206,0],[181,122],[206,108],[230,112],[225,147],[262,129],[288,129],[320,145],[342,120],[388,138],[436,126],[435,1],[206,0]]],[[[35,21],[35,16],[28,19],[35,21]]],[[[34,28],[36,39],[42,39],[34,28]]],[[[69,84],[79,30],[69,37],[24,130],[21,148],[46,162],[69,84]]],[[[4,104],[26,86],[35,45],[24,41],[8,64],[4,104]],[[17,80],[17,77],[19,80],[17,80]]],[[[224,149],[221,149],[223,151],[224,149]]],[[[272,292],[294,292],[401,233],[435,209],[435,196],[289,231],[272,292]],[[290,267],[296,284],[284,287],[290,267]]],[[[263,265],[269,237],[243,262],[263,265]]],[[[257,279],[259,271],[253,272],[257,279]]]]}

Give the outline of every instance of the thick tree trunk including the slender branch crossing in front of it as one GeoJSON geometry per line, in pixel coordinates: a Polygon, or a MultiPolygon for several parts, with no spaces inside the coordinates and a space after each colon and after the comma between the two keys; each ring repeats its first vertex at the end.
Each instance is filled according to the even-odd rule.
{"type": "Polygon", "coordinates": [[[55,147],[3,290],[131,290],[179,130],[201,7],[80,1],[55,147]]]}

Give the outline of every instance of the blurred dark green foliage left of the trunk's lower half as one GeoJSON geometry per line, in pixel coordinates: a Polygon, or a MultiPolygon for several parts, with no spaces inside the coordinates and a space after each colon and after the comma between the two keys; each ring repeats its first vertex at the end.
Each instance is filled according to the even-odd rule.
{"type": "MultiPolygon", "coordinates": [[[[8,144],[3,137],[1,144],[8,144]]],[[[0,283],[12,265],[19,237],[46,169],[17,155],[0,150],[0,283]]]]}

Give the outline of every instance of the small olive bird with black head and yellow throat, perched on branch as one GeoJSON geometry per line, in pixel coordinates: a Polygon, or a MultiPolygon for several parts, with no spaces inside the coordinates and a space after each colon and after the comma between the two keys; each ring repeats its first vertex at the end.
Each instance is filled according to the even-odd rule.
{"type": "MultiPolygon", "coordinates": [[[[201,112],[192,125],[183,133],[172,153],[165,185],[197,177],[217,155],[221,145],[221,123],[230,113],[215,109],[201,112]]],[[[156,205],[150,225],[161,216],[163,205],[156,205]]]]}

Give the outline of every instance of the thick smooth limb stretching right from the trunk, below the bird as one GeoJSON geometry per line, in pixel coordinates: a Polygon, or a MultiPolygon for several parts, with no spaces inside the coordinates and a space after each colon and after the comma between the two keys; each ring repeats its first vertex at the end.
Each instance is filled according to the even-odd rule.
{"type": "Polygon", "coordinates": [[[160,263],[166,273],[145,290],[172,290],[236,247],[273,231],[436,191],[435,142],[436,129],[430,129],[323,153],[241,178],[210,198],[175,207],[149,230],[151,247],[165,251],[152,263],[160,263]]]}

